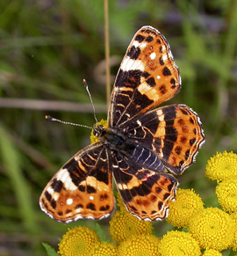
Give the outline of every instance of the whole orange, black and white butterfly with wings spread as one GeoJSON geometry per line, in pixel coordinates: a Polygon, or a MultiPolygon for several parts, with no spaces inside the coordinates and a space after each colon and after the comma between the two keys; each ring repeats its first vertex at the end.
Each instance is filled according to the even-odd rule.
{"type": "Polygon", "coordinates": [[[205,143],[189,106],[158,106],[181,88],[169,43],[152,26],[135,33],[111,92],[108,127],[96,124],[98,142],[80,150],[49,181],[40,208],[54,220],[102,219],[115,200],[112,177],[126,209],[141,220],[168,216],[180,175],[205,143]]]}

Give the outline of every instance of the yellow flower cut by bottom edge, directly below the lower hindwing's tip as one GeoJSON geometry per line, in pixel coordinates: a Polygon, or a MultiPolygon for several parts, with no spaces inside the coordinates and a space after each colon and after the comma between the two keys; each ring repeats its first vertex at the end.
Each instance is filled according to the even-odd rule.
{"type": "Polygon", "coordinates": [[[132,237],[118,246],[118,256],[159,256],[159,242],[153,235],[132,237]]]}

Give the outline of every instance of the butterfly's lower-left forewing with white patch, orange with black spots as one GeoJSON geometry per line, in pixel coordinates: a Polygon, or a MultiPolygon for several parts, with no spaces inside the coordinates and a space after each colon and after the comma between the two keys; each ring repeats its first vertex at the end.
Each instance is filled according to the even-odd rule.
{"type": "Polygon", "coordinates": [[[39,199],[40,207],[56,221],[100,219],[114,208],[108,151],[94,143],[61,167],[39,199]]]}

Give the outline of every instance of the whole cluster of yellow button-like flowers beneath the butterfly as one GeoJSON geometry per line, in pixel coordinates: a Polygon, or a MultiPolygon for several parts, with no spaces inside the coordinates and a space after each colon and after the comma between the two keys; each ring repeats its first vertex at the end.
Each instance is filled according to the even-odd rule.
{"type": "Polygon", "coordinates": [[[60,255],[219,256],[226,249],[237,251],[237,155],[217,153],[208,161],[205,175],[217,180],[222,209],[205,208],[193,189],[177,189],[176,201],[169,203],[167,222],[184,230],[168,231],[157,238],[152,223],[130,215],[118,196],[119,210],[109,229],[113,242],[101,242],[94,230],[79,226],[61,239],[60,255]]]}

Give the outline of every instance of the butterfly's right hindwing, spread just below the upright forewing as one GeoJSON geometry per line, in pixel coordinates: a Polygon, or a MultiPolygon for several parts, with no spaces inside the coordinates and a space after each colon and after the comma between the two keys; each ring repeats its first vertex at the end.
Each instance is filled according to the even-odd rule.
{"type": "Polygon", "coordinates": [[[151,150],[162,163],[181,174],[205,142],[202,123],[189,106],[163,106],[129,122],[127,137],[151,150]]]}

